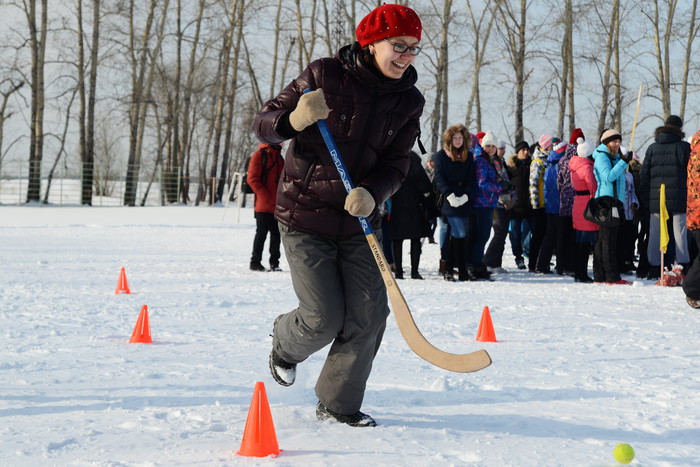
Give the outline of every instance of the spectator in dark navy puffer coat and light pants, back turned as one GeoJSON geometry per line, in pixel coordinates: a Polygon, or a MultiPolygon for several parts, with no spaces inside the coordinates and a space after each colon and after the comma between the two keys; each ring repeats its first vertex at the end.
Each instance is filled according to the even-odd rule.
{"type": "MultiPolygon", "coordinates": [[[[676,262],[687,268],[690,262],[686,230],[686,203],[688,160],[690,144],[684,141],[683,120],[669,116],[663,126],[656,129],[654,142],[647,148],[640,172],[640,202],[649,212],[648,279],[656,280],[661,274],[660,192],[666,186],[666,210],[673,225],[676,262]]],[[[671,260],[671,258],[668,258],[671,260]]]]}

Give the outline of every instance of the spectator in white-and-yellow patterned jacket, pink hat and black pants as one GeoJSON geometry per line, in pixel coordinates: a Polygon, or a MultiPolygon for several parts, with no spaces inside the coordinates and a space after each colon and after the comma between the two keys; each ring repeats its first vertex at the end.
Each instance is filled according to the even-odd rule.
{"type": "MultiPolygon", "coordinates": [[[[544,235],[547,231],[547,214],[545,212],[544,198],[544,174],[547,169],[547,158],[549,150],[552,148],[552,137],[548,134],[540,136],[537,141],[537,147],[532,154],[532,163],[530,164],[530,205],[532,206],[532,218],[530,221],[530,229],[532,236],[530,238],[530,254],[528,257],[528,269],[530,272],[537,270],[537,259],[540,254],[540,247],[544,240],[544,235]]],[[[549,266],[547,266],[549,269],[549,266]]],[[[546,272],[542,270],[540,272],[546,272]]]]}

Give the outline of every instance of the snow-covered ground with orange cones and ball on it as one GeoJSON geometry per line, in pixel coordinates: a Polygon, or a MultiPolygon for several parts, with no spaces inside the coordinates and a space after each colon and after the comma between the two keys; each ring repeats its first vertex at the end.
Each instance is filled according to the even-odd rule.
{"type": "Polygon", "coordinates": [[[432,367],[391,318],[363,407],[380,426],[350,428],[315,419],[324,352],[290,388],[268,374],[295,297],[284,258],[248,270],[252,211],[237,217],[0,207],[0,465],[614,466],[620,442],[632,465],[700,465],[700,313],[680,288],[535,276],[509,253],[495,282],[447,283],[426,244],[426,280],[399,281],[418,325],[494,363],[432,367]],[[121,267],[131,295],[114,293],[121,267]],[[154,343],[129,344],[143,305],[154,343]],[[487,305],[496,343],[475,342],[487,305]],[[235,455],[256,381],[277,458],[235,455]]]}

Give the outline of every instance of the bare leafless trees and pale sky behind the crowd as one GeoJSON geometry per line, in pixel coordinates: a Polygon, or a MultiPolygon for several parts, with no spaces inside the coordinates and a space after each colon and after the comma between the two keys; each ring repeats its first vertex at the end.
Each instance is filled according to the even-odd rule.
{"type": "MultiPolygon", "coordinates": [[[[161,204],[221,202],[257,147],[255,112],[381,3],[0,0],[0,193],[48,202],[62,177],[75,204],[118,184],[142,205],[154,183],[161,204]]],[[[396,3],[423,22],[430,153],[455,123],[509,148],[614,127],[642,154],[669,114],[698,129],[697,0],[396,3]]]]}

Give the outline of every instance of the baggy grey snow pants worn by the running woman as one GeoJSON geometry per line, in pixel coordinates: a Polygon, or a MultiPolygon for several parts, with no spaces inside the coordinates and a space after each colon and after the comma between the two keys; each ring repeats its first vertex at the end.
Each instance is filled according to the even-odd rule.
{"type": "MultiPolygon", "coordinates": [[[[332,344],[316,396],[341,414],[360,410],[389,315],[387,294],[364,235],[328,238],[280,226],[299,307],[281,316],[272,345],[290,363],[332,344]]],[[[381,244],[381,231],[377,232],[381,244]]]]}

